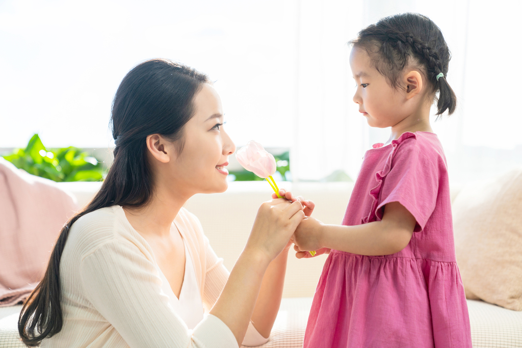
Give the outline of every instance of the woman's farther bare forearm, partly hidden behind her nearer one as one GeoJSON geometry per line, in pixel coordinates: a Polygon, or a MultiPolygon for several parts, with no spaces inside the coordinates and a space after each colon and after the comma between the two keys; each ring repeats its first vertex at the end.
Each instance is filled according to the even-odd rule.
{"type": "Polygon", "coordinates": [[[257,332],[268,338],[276,321],[281,296],[283,294],[284,274],[287,270],[288,250],[283,250],[265,272],[259,296],[252,314],[252,322],[257,332]]]}

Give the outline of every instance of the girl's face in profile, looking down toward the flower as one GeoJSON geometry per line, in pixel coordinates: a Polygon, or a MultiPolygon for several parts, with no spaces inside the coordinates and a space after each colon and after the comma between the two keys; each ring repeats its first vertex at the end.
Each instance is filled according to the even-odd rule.
{"type": "Polygon", "coordinates": [[[373,67],[366,50],[353,47],[350,67],[357,90],[353,101],[371,127],[392,127],[408,116],[403,91],[391,87],[386,78],[373,67]]]}

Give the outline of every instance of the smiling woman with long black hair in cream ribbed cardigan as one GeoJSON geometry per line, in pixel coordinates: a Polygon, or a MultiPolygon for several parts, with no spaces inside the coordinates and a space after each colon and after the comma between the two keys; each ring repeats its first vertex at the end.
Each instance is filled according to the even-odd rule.
{"type": "Polygon", "coordinates": [[[196,193],[227,189],[225,167],[235,151],[207,76],[165,59],[141,63],[122,80],[111,122],[114,162],[98,194],[64,226],[43,280],[23,305],[23,342],[266,342],[279,309],[289,239],[304,218],[301,203],[263,203],[229,274],[183,208],[196,193]],[[206,317],[203,306],[210,309],[206,317]]]}

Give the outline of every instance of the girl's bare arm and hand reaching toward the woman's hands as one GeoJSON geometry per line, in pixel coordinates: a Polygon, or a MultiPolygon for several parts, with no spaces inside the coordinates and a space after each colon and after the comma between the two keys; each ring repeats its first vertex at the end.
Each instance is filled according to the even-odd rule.
{"type": "Polygon", "coordinates": [[[306,218],[295,230],[294,249],[298,251],[298,258],[310,257],[308,250],[319,248],[367,256],[391,255],[408,245],[416,223],[413,215],[399,202],[384,206],[381,221],[362,225],[327,225],[306,218]]]}

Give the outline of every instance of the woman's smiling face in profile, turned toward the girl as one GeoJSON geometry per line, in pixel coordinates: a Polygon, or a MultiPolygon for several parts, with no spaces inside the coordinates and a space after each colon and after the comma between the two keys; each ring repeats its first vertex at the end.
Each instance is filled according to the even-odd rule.
{"type": "Polygon", "coordinates": [[[223,108],[216,90],[205,83],[194,97],[195,114],[185,124],[183,148],[173,163],[176,189],[188,195],[227,189],[228,157],[235,145],[224,131],[223,108]]]}

